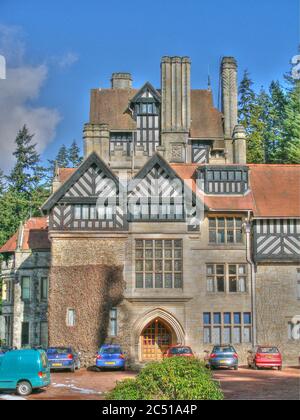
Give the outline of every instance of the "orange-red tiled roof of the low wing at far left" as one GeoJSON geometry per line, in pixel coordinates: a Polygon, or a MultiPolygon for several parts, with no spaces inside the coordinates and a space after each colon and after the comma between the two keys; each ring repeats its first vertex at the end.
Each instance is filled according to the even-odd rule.
{"type": "MultiPolygon", "coordinates": [[[[28,250],[50,250],[48,239],[47,217],[32,217],[22,226],[22,240],[20,249],[28,250]]],[[[0,248],[0,253],[11,253],[17,249],[20,229],[0,248]]]]}

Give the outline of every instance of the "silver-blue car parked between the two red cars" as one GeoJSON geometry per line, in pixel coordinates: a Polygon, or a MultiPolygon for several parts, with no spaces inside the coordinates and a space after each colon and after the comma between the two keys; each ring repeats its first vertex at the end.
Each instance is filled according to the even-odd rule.
{"type": "MultiPolygon", "coordinates": [[[[209,354],[209,352],[206,353],[209,354]]],[[[238,370],[238,354],[235,348],[230,345],[215,346],[207,358],[207,365],[211,369],[229,368],[238,370]]]]}

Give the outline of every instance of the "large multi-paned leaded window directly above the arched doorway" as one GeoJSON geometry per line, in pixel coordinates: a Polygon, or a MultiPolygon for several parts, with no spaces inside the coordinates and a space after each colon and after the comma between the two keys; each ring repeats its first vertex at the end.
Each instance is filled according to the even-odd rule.
{"type": "Polygon", "coordinates": [[[136,288],[182,289],[182,240],[136,241],[136,288]]]}

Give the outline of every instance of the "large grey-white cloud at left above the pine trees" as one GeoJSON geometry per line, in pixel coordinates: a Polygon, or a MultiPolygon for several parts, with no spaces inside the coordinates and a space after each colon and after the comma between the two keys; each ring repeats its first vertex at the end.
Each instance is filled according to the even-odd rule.
{"type": "Polygon", "coordinates": [[[47,81],[48,68],[24,63],[24,45],[19,30],[0,25],[0,54],[8,62],[6,80],[0,80],[0,169],[5,172],[13,165],[14,141],[24,124],[35,134],[34,142],[42,153],[55,138],[61,120],[56,109],[33,104],[47,81]]]}

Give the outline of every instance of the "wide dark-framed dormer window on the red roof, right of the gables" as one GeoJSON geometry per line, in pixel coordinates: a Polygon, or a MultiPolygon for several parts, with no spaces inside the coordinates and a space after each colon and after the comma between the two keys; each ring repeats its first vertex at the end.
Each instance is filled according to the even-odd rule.
{"type": "Polygon", "coordinates": [[[247,166],[204,166],[198,169],[201,189],[206,194],[243,195],[248,191],[247,166]]]}

